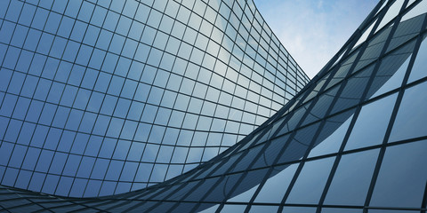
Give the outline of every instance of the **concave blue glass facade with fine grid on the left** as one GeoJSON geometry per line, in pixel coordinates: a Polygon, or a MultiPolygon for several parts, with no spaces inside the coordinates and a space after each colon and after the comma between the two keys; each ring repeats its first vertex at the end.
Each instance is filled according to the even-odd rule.
{"type": "Polygon", "coordinates": [[[0,2],[0,183],[125,193],[235,145],[309,78],[252,1],[0,2]]]}

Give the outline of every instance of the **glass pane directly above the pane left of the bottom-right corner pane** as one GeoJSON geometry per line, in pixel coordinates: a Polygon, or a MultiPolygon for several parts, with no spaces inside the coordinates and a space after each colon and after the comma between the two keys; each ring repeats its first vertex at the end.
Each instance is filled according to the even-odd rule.
{"type": "Polygon", "coordinates": [[[362,107],[345,150],[383,143],[396,97],[393,94],[362,107]]]}

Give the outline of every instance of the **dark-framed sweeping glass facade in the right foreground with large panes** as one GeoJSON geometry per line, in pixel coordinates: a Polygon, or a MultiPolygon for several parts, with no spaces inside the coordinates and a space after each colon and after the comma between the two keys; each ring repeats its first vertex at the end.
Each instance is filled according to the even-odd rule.
{"type": "Polygon", "coordinates": [[[65,198],[1,186],[7,211],[423,213],[427,0],[381,1],[302,91],[235,146],[158,185],[65,198]]]}

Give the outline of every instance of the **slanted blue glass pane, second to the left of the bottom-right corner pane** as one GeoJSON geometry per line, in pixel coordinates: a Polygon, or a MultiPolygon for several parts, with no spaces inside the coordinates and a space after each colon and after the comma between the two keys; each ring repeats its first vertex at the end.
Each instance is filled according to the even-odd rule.
{"type": "Polygon", "coordinates": [[[286,203],[318,204],[333,163],[332,157],[306,162],[286,203]]]}

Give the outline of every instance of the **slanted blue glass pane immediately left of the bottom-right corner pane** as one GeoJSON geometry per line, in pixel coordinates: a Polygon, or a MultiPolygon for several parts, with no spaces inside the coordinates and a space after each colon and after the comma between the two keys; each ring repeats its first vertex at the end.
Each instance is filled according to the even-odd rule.
{"type": "Polygon", "coordinates": [[[379,149],[343,155],[326,193],[325,204],[363,206],[378,153],[379,149]]]}

